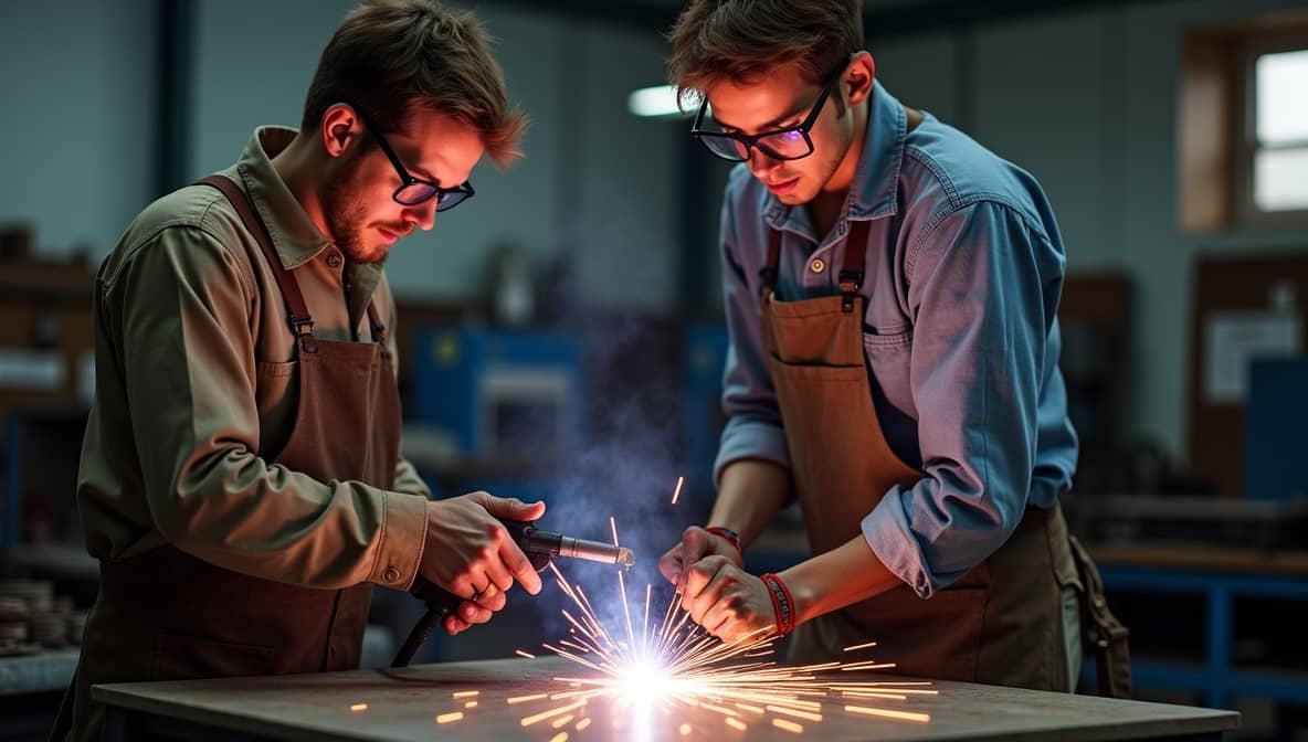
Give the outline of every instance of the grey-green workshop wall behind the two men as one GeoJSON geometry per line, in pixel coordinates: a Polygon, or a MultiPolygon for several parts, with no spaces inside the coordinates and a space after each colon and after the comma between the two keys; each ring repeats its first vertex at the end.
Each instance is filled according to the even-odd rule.
{"type": "MultiPolygon", "coordinates": [[[[229,163],[260,123],[296,124],[331,29],[351,5],[200,0],[190,175],[229,163]],[[251,22],[259,18],[259,22],[251,22]]],[[[1192,265],[1203,251],[1303,250],[1303,229],[1177,230],[1176,81],[1192,24],[1299,7],[1295,0],[1176,0],[1041,13],[974,29],[874,38],[888,88],[1032,171],[1053,200],[1071,272],[1125,268],[1135,287],[1131,436],[1184,452],[1192,265]]],[[[42,255],[93,263],[154,196],[156,3],[7,4],[0,24],[0,222],[35,227],[42,255]]],[[[526,158],[489,163],[479,197],[396,250],[411,298],[460,300],[485,285],[488,248],[540,266],[570,259],[582,303],[670,312],[701,270],[717,306],[717,204],[726,169],[685,167],[685,121],[641,120],[629,90],[663,77],[662,29],[581,22],[483,3],[510,93],[531,114],[526,158]],[[702,263],[683,266],[680,188],[705,176],[702,263]],[[638,276],[638,280],[623,280],[638,276]]]]}

